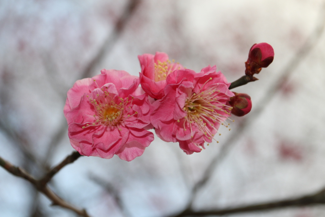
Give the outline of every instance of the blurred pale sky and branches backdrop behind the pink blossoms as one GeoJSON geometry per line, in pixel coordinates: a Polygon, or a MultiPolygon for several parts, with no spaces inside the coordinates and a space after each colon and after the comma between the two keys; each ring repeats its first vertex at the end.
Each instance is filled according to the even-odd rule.
{"type": "MultiPolygon", "coordinates": [[[[100,73],[138,75],[137,55],[166,52],[200,71],[244,75],[254,43],[273,63],[234,89],[252,112],[234,117],[220,143],[186,155],[155,136],[131,162],[81,157],[50,187],[91,216],[168,216],[280,200],[325,186],[325,36],[322,0],[1,0],[0,156],[42,177],[73,149],[63,106],[73,83],[100,73]],[[207,170],[208,169],[208,170],[207,170]],[[207,182],[191,194],[193,186],[207,182]]],[[[0,216],[74,216],[0,168],[0,216]]],[[[228,216],[316,217],[324,206],[228,216]]]]}

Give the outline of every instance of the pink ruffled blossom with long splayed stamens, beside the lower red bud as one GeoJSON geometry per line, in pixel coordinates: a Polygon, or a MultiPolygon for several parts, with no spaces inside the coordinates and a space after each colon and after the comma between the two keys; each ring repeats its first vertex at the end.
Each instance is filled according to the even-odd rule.
{"type": "Polygon", "coordinates": [[[229,86],[215,66],[209,65],[200,73],[175,70],[166,80],[164,96],[153,103],[150,120],[157,136],[167,142],[179,142],[187,154],[201,152],[204,142],[212,142],[219,134],[221,124],[228,127],[228,101],[234,96],[229,86]]]}

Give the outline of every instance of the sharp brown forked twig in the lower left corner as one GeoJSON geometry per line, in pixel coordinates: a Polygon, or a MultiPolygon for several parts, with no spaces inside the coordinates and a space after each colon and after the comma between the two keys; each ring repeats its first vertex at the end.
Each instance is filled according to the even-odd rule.
{"type": "MultiPolygon", "coordinates": [[[[77,152],[78,153],[78,152],[77,152]]],[[[79,154],[79,153],[78,153],[79,154]]],[[[40,192],[42,192],[45,196],[47,196],[51,201],[53,206],[60,206],[69,210],[74,211],[80,216],[89,217],[86,210],[79,210],[78,208],[72,206],[62,198],[60,198],[58,195],[56,195],[46,184],[53,176],[56,174],[63,166],[72,163],[76,159],[80,157],[80,154],[78,155],[75,152],[73,152],[71,155],[69,155],[66,159],[64,159],[58,166],[55,166],[48,174],[44,176],[43,179],[37,180],[32,175],[30,175],[26,170],[14,166],[2,157],[0,157],[0,166],[6,169],[9,173],[21,177],[30,183],[40,192]]]]}

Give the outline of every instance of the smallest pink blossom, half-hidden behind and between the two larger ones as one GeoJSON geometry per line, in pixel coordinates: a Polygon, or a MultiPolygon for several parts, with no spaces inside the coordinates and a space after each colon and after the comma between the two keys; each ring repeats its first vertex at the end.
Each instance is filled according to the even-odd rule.
{"type": "Polygon", "coordinates": [[[168,55],[156,52],[155,55],[143,54],[138,56],[141,72],[140,84],[143,90],[154,99],[161,99],[164,95],[166,79],[175,69],[183,69],[179,63],[172,62],[168,55]]]}

